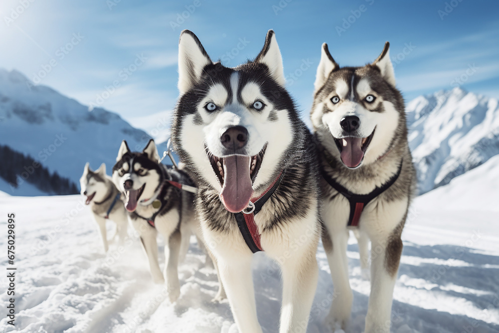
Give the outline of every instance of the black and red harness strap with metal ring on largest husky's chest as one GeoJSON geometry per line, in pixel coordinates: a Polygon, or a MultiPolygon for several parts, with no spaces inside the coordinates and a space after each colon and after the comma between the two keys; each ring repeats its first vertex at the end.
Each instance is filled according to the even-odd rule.
{"type": "Polygon", "coordinates": [[[286,170],[281,171],[279,176],[277,176],[273,183],[270,184],[259,197],[250,199],[251,211],[248,212],[245,209],[240,213],[234,213],[236,221],[238,222],[239,231],[252,253],[263,251],[260,244],[261,234],[258,232],[258,227],[254,222],[254,216],[258,214],[265,202],[267,202],[277,186],[279,186],[285,171],[286,170]]]}

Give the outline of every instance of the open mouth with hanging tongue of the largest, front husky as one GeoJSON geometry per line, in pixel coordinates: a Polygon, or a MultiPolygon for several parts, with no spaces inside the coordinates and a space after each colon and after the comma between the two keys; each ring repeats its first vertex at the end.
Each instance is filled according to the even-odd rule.
{"type": "Polygon", "coordinates": [[[258,174],[267,144],[254,156],[229,155],[214,156],[207,150],[208,159],[217,175],[222,192],[220,198],[225,208],[232,213],[239,213],[248,207],[253,194],[253,182],[258,174]]]}

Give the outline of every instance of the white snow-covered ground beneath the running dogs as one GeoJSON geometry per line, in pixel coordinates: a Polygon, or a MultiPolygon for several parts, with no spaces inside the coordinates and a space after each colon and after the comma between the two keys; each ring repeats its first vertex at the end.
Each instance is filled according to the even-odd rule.
{"type": "MultiPolygon", "coordinates": [[[[416,199],[403,233],[392,332],[499,332],[499,157],[416,199]],[[495,198],[495,199],[494,199],[495,198]]],[[[152,284],[135,237],[102,251],[96,224],[79,196],[1,195],[1,229],[16,213],[16,320],[1,332],[235,333],[229,304],[214,304],[217,279],[195,241],[180,267],[181,296],[171,304],[152,284]]],[[[113,226],[108,224],[111,232],[113,226]]],[[[5,237],[0,249],[5,249],[5,237]]],[[[160,243],[161,250],[163,249],[160,243]]],[[[363,331],[369,282],[362,280],[357,245],[348,246],[354,290],[347,332],[363,331]]],[[[164,256],[160,256],[164,261],[164,256]]],[[[333,286],[322,246],[310,333],[329,332],[322,321],[333,286]]],[[[277,332],[279,270],[263,254],[254,258],[259,322],[277,332]]],[[[1,290],[7,281],[1,273],[1,290]]],[[[7,304],[6,292],[0,298],[7,304]]]]}

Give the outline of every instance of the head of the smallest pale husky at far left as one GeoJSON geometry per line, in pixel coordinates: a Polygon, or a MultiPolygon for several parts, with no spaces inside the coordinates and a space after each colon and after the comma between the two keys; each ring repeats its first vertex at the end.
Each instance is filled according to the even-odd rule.
{"type": "Polygon", "coordinates": [[[87,197],[85,204],[92,201],[99,202],[109,193],[109,186],[106,184],[106,165],[102,163],[100,167],[92,171],[87,162],[83,169],[83,175],[80,178],[80,193],[87,197]]]}

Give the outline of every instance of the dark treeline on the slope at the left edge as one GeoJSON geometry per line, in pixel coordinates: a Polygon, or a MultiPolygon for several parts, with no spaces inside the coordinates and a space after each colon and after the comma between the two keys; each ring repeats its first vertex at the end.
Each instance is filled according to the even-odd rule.
{"type": "Polygon", "coordinates": [[[0,145],[0,177],[10,185],[11,195],[24,182],[34,185],[48,194],[77,194],[76,184],[54,172],[50,174],[47,168],[35,161],[31,156],[24,155],[8,146],[0,145]]]}

